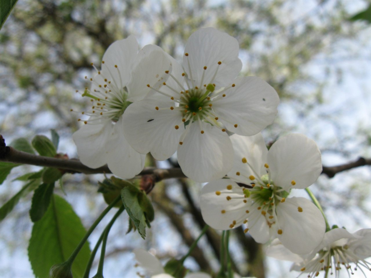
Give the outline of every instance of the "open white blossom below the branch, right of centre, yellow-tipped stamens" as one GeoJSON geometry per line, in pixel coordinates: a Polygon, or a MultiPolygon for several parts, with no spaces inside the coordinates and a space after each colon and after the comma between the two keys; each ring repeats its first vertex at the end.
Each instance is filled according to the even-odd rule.
{"type": "Polygon", "coordinates": [[[292,188],[304,189],[320,175],[316,143],[290,134],[268,151],[260,133],[230,138],[235,161],[229,179],[210,182],[201,190],[205,222],[222,230],[246,224],[245,232],[257,242],[278,237],[292,252],[311,251],[325,233],[324,218],[308,199],[287,196],[292,188]]]}

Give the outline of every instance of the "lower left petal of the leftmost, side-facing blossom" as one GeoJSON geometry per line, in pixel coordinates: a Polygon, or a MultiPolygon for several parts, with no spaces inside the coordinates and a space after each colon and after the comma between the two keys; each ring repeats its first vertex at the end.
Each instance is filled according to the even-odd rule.
{"type": "Polygon", "coordinates": [[[98,168],[107,163],[105,145],[111,130],[111,120],[102,119],[96,124],[83,125],[73,133],[72,138],[76,144],[79,159],[84,165],[98,168]]]}

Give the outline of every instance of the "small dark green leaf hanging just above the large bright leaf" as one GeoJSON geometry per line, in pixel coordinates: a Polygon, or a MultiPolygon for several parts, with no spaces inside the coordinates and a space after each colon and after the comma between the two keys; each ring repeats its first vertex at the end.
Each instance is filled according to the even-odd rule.
{"type": "Polygon", "coordinates": [[[42,183],[33,193],[30,217],[32,222],[39,221],[49,207],[53,195],[54,183],[42,183]]]}

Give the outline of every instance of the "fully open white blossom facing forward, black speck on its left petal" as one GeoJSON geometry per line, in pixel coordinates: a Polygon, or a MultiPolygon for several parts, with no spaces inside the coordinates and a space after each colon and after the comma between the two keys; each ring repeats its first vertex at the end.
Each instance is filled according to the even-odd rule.
{"type": "MultiPolygon", "coordinates": [[[[257,77],[236,78],[242,68],[236,39],[213,28],[188,39],[183,66],[172,59],[161,89],[133,103],[124,133],[140,153],[165,160],[177,151],[184,174],[198,182],[222,178],[233,165],[226,132],[254,135],[273,122],[279,97],[257,77]],[[161,97],[160,97],[161,96],[161,97]]],[[[171,59],[171,58],[169,58],[171,59]]]]}

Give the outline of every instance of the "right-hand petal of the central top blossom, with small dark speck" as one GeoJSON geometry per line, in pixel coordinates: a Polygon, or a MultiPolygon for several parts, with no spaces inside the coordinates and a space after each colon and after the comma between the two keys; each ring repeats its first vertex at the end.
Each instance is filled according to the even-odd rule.
{"type": "Polygon", "coordinates": [[[231,132],[255,135],[275,120],[279,97],[255,76],[237,78],[233,83],[236,86],[227,89],[225,97],[213,101],[215,114],[231,132]]]}

